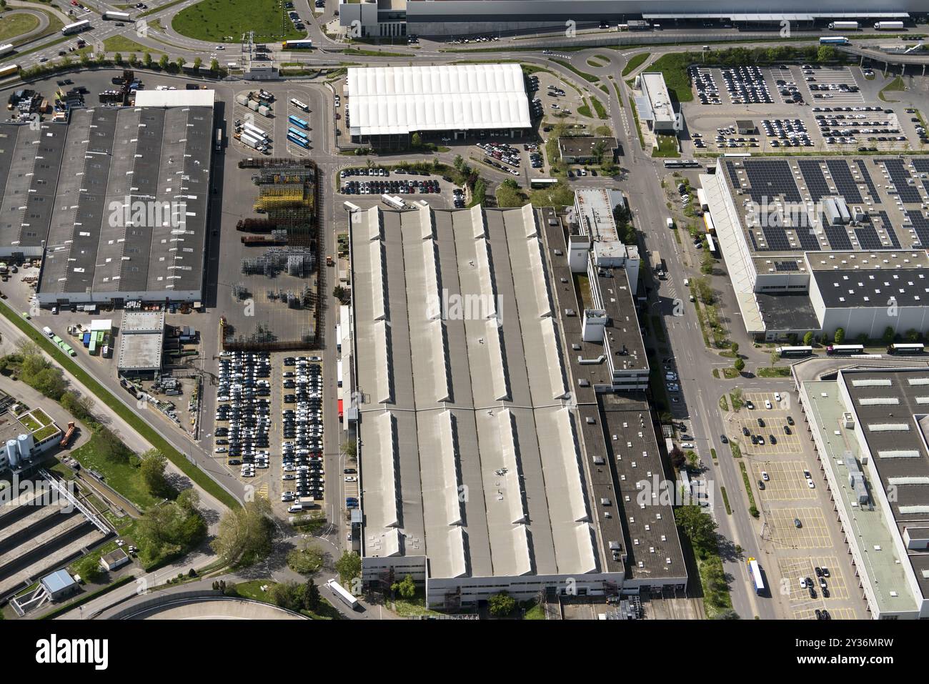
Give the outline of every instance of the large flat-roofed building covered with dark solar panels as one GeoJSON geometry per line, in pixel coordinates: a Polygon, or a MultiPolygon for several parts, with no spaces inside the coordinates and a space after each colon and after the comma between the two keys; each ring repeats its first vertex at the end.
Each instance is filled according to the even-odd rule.
{"type": "Polygon", "coordinates": [[[929,332],[929,160],[721,159],[700,183],[756,338],[929,332]]]}

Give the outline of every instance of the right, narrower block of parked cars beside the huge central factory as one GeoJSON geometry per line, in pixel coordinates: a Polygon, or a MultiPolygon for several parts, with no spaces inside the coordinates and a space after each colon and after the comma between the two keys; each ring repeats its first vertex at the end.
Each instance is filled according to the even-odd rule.
{"type": "Polygon", "coordinates": [[[322,366],[318,356],[286,357],[281,375],[281,480],[287,491],[282,502],[295,502],[288,512],[304,510],[304,497],[321,499],[325,472],[322,463],[322,366]],[[293,404],[293,405],[292,405],[293,404]]]}

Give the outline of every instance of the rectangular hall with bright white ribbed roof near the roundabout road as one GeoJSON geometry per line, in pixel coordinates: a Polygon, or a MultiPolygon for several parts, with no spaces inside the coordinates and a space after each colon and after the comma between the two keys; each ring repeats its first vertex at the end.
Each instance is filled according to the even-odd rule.
{"type": "Polygon", "coordinates": [[[406,146],[412,133],[489,130],[517,135],[530,127],[518,64],[350,68],[352,142],[406,146]]]}

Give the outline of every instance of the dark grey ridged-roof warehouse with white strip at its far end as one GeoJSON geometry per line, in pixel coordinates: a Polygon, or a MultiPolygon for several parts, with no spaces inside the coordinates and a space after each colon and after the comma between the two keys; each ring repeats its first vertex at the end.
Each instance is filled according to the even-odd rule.
{"type": "Polygon", "coordinates": [[[23,256],[45,244],[41,305],[202,298],[213,99],[212,90],[142,91],[136,107],[75,110],[67,127],[50,126],[67,140],[48,170],[48,216],[37,210],[37,230],[20,230],[20,243],[35,243],[23,256]]]}

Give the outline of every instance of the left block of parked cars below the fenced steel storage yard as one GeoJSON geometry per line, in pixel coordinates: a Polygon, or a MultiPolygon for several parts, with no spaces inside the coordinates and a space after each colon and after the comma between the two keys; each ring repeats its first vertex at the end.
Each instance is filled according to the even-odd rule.
{"type": "Polygon", "coordinates": [[[216,454],[242,466],[243,478],[267,468],[270,430],[270,358],[267,352],[224,351],[216,388],[216,454]]]}

